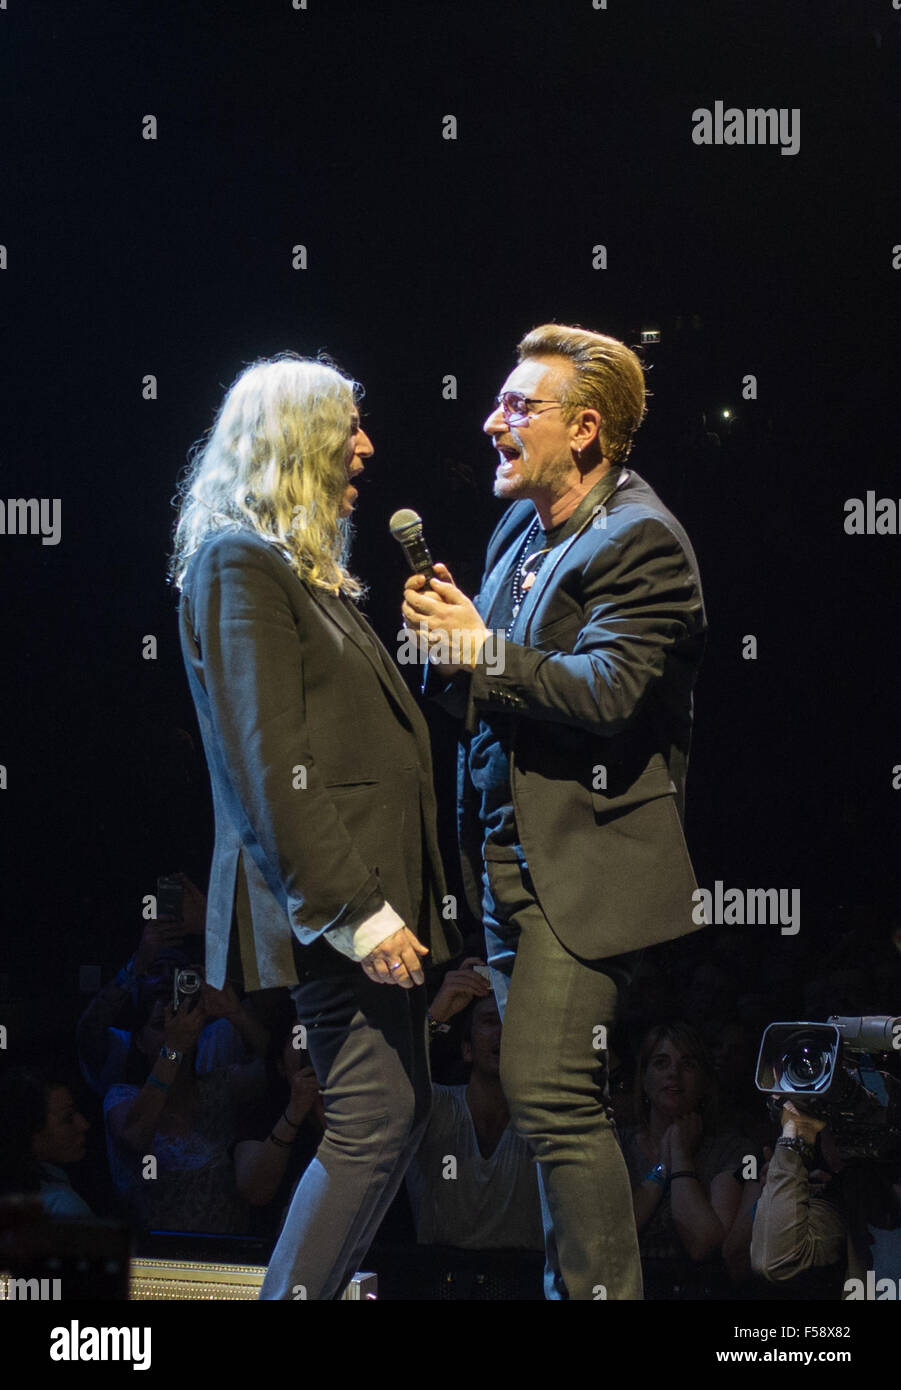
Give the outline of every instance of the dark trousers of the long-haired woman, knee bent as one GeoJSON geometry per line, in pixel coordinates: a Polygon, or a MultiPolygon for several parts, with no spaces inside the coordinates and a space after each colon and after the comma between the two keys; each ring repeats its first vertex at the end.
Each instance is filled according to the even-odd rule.
{"type": "Polygon", "coordinates": [[[260,1298],[341,1298],[431,1109],[425,988],[373,984],[325,942],[292,991],[324,1090],[325,1134],[295,1188],[260,1298]],[[332,959],[334,958],[334,959],[332,959]]]}

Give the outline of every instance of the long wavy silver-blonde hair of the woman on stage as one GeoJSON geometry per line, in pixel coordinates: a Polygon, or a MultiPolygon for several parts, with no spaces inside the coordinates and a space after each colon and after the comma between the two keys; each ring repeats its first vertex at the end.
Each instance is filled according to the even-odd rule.
{"type": "Polygon", "coordinates": [[[328,360],[291,352],[241,373],[178,485],[168,567],[178,588],[210,534],[249,527],[310,584],[363,594],[346,569],[350,528],[339,520],[360,393],[328,360]]]}

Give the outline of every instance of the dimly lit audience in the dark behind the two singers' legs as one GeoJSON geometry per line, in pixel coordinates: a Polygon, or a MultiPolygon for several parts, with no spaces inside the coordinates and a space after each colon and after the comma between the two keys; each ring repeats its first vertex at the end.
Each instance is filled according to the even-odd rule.
{"type": "MultiPolygon", "coordinates": [[[[264,1261],[327,1116],[288,991],[241,999],[231,986],[200,984],[174,1006],[179,972],[203,972],[204,898],[179,877],[182,920],[147,920],[83,1011],[79,1074],[10,1059],[0,1193],[32,1194],[58,1220],[124,1218],[145,1252],[178,1232],[243,1237],[264,1261]],[[161,1080],[167,1048],[185,1059],[174,1081],[161,1080]],[[96,1144],[86,1158],[95,1127],[106,1165],[96,1144]]],[[[765,951],[751,960],[736,930],[704,937],[704,949],[642,954],[617,1036],[598,1055],[633,1183],[645,1298],[841,1297],[868,1269],[898,1280],[901,1161],[844,1163],[822,1120],[791,1104],[774,1126],[754,1081],[772,1020],[884,1012],[901,984],[897,934],[836,930],[826,949],[822,938],[809,948],[818,960],[802,974],[799,955],[793,970],[765,951]]],[[[501,1019],[481,965],[473,933],[463,959],[428,986],[432,1115],[370,1257],[377,1269],[419,1270],[407,1297],[427,1295],[427,1272],[452,1259],[501,1270],[494,1297],[541,1297],[535,1169],[509,1123],[501,1019]]]]}

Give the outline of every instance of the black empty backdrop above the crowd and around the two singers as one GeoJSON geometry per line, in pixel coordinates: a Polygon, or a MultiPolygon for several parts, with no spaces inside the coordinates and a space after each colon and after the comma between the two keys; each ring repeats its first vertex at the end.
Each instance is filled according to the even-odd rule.
{"type": "MultiPolygon", "coordinates": [[[[844,531],[845,499],[901,496],[888,0],[8,0],[0,39],[0,486],[63,517],[57,546],[0,537],[10,1045],[71,1056],[79,967],[128,958],[157,873],[206,885],[164,571],[224,388],[286,348],[364,382],[355,567],[391,646],[388,517],[420,510],[474,591],[501,510],[480,425],[551,318],[660,331],[630,463],[687,525],[709,609],[688,844],[704,885],[801,890],[798,935],[723,929],[726,954],[772,965],[774,1016],[801,1016],[845,933],[888,979],[901,539],[844,531]],[[695,146],[716,100],[799,108],[799,153],[695,146]]],[[[453,728],[430,719],[453,867],[453,728]]]]}

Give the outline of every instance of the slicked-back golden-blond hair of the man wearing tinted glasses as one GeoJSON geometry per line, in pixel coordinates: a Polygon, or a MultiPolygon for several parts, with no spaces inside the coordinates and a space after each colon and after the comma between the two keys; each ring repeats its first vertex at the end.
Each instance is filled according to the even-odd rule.
{"type": "Polygon", "coordinates": [[[644,367],[631,348],[588,328],[541,324],[526,334],[517,354],[520,361],[566,357],[574,371],[563,392],[563,418],[571,424],[580,410],[599,410],[603,456],[613,463],[628,457],[633,436],[647,413],[644,367]]]}

